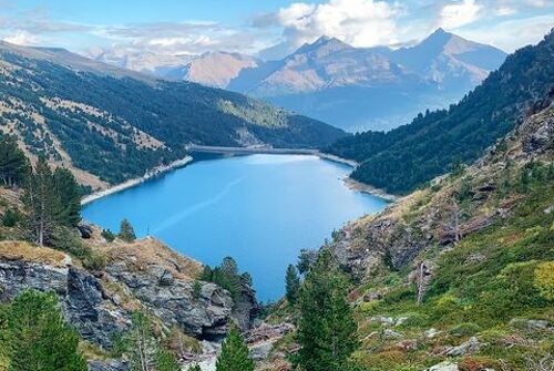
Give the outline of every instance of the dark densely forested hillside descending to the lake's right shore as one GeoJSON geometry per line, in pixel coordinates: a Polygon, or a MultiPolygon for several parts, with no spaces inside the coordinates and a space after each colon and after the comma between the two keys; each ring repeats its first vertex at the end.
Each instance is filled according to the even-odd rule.
{"type": "Polygon", "coordinates": [[[341,138],[326,151],[360,163],[352,178],[406,194],[460,162],[474,161],[514,128],[525,110],[552,93],[553,55],[551,32],[537,45],[511,54],[449,110],[425,112],[388,133],[366,132],[341,138]]]}

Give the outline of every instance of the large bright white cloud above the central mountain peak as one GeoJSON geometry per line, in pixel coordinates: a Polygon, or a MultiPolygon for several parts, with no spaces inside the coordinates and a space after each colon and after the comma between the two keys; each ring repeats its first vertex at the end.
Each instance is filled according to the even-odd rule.
{"type": "Polygon", "coordinates": [[[293,3],[276,13],[261,16],[254,24],[283,28],[285,40],[280,50],[291,51],[324,34],[355,47],[373,47],[399,41],[397,19],[402,14],[403,8],[398,3],[328,0],[321,4],[293,3]]]}

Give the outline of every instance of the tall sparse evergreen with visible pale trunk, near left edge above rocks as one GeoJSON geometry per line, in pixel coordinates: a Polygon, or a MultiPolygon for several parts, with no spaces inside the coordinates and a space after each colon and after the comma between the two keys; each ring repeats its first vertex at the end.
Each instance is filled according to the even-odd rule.
{"type": "Polygon", "coordinates": [[[31,235],[37,244],[44,246],[52,238],[61,210],[52,171],[43,157],[37,162],[34,173],[30,172],[27,177],[23,203],[31,235]]]}

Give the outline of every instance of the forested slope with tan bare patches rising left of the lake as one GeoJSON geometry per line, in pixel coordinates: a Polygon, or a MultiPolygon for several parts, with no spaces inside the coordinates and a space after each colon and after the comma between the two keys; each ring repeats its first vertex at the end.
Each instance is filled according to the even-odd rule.
{"type": "Polygon", "coordinates": [[[143,175],[184,156],[189,143],[317,147],[343,135],[237,93],[155,81],[61,50],[3,43],[0,72],[3,132],[30,153],[95,175],[81,179],[94,186],[143,175]]]}

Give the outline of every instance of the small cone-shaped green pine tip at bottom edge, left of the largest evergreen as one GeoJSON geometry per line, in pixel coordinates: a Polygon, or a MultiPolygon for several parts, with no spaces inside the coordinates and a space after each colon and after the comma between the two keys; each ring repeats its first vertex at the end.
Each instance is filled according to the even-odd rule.
{"type": "Polygon", "coordinates": [[[215,364],[216,371],[254,371],[254,361],[236,328],[230,329],[215,364]]]}

